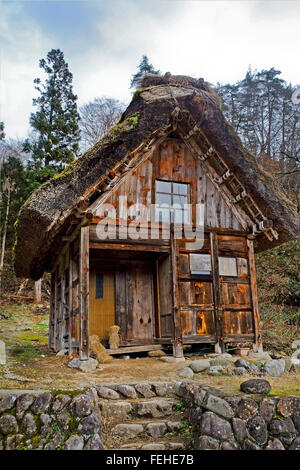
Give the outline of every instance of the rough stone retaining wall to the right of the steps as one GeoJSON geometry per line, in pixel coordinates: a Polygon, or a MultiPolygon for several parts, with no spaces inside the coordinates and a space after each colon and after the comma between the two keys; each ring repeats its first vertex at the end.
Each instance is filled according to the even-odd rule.
{"type": "Polygon", "coordinates": [[[193,429],[194,449],[300,450],[300,398],[252,394],[266,381],[248,382],[252,387],[244,387],[245,395],[185,382],[177,385],[193,429]]]}

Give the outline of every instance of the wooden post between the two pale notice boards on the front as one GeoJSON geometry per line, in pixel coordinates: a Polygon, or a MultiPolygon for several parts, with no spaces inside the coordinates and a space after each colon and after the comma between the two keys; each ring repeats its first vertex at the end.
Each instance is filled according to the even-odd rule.
{"type": "Polygon", "coordinates": [[[215,232],[210,232],[210,246],[211,246],[211,263],[212,263],[212,277],[213,277],[213,294],[214,294],[214,317],[217,342],[215,344],[216,353],[220,354],[225,351],[223,342],[223,310],[221,306],[220,294],[220,280],[219,280],[219,256],[218,256],[218,239],[215,232]]]}

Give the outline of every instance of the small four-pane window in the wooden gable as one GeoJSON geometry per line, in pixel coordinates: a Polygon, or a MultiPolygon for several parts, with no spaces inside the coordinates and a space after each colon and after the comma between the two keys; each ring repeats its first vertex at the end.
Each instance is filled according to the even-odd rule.
{"type": "Polygon", "coordinates": [[[156,180],[155,219],[159,222],[189,223],[189,184],[156,180]]]}

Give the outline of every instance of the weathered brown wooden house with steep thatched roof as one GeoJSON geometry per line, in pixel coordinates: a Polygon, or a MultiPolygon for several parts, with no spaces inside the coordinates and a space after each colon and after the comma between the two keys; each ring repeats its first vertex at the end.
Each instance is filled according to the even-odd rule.
{"type": "Polygon", "coordinates": [[[89,336],[105,343],[112,325],[124,351],[261,349],[254,253],[297,236],[293,205],[207,83],[147,76],[109,134],[23,206],[15,266],[35,280],[52,273],[54,351],[86,359],[89,336]],[[200,245],[176,232],[180,222],[200,227],[197,205],[200,245]]]}

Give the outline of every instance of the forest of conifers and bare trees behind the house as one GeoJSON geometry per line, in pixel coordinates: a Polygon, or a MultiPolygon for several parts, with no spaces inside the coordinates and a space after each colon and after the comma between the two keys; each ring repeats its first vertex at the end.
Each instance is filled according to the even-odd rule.
{"type": "MultiPolygon", "coordinates": [[[[0,294],[15,296],[32,283],[16,279],[13,269],[15,224],[32,191],[100,140],[119,120],[125,104],[100,96],[80,108],[72,74],[60,50],[40,60],[44,80],[36,78],[36,112],[24,141],[5,138],[0,123],[0,294]]],[[[146,73],[159,74],[146,56],[130,86],[146,73]]],[[[292,101],[297,86],[281,72],[248,70],[234,84],[215,86],[223,111],[257,163],[278,181],[300,213],[300,104],[292,101]]],[[[284,349],[300,328],[300,242],[292,241],[257,256],[260,310],[265,345],[284,349]]],[[[48,295],[48,278],[43,282],[48,295]]],[[[1,315],[1,310],[0,310],[1,315]]]]}

